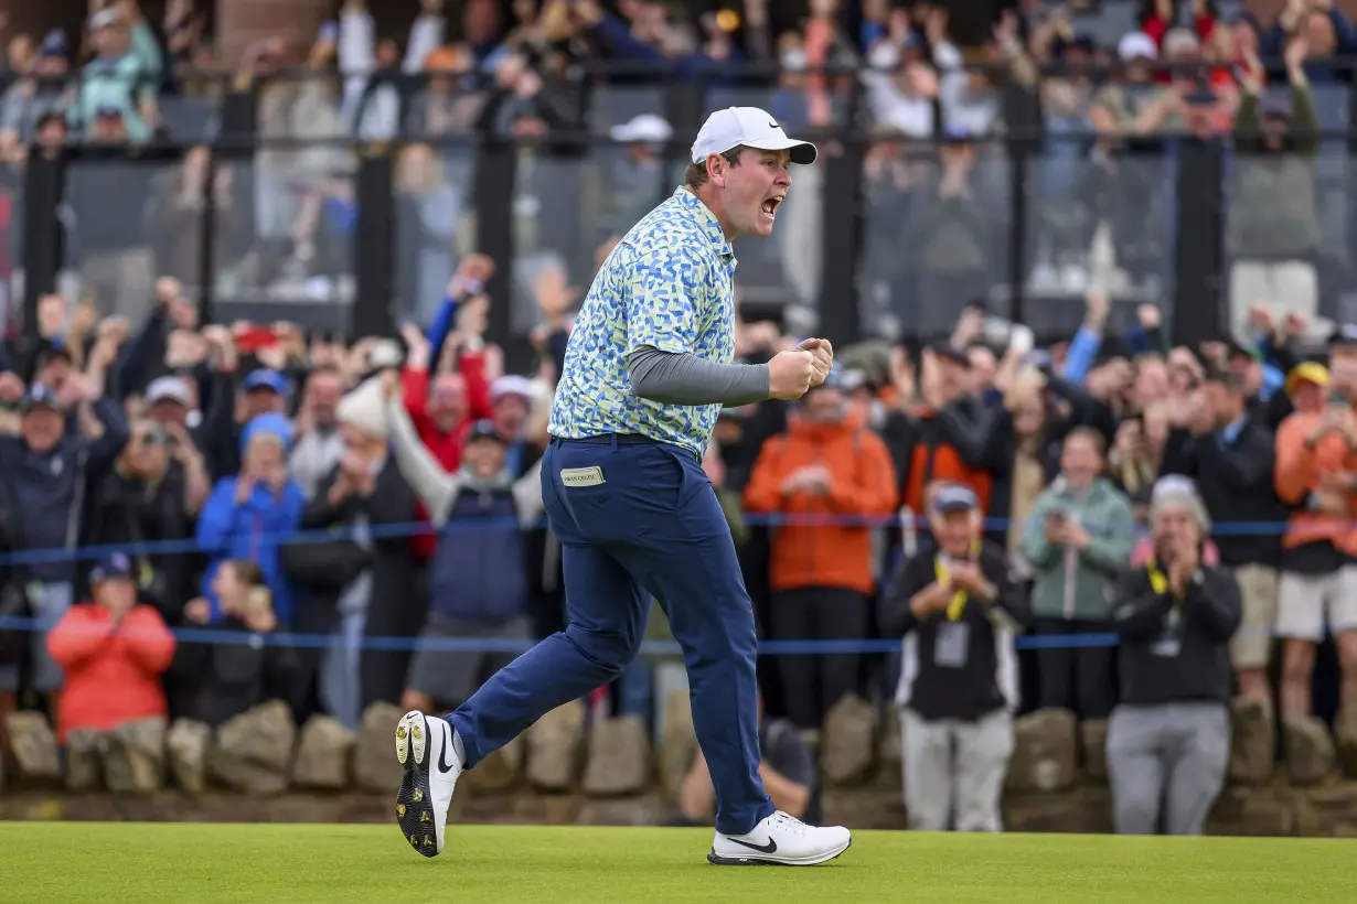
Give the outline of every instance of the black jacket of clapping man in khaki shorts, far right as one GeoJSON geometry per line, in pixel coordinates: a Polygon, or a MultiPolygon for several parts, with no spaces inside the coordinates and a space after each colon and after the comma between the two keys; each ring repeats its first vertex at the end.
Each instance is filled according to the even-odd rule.
{"type": "Polygon", "coordinates": [[[1223,527],[1239,523],[1247,527],[1286,520],[1288,508],[1277,499],[1273,465],[1277,461],[1276,439],[1253,417],[1229,443],[1216,434],[1193,436],[1175,430],[1164,450],[1164,473],[1186,474],[1197,481],[1197,491],[1206,512],[1216,523],[1212,541],[1220,550],[1223,565],[1248,564],[1276,568],[1281,558],[1281,533],[1223,527]]]}

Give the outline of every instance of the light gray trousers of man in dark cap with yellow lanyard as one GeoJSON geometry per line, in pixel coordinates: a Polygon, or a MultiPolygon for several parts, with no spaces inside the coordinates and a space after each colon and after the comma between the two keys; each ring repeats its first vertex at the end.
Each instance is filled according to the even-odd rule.
{"type": "Polygon", "coordinates": [[[999,800],[1014,752],[1014,721],[999,710],[976,722],[901,718],[905,810],[916,832],[1001,832],[999,800]]]}

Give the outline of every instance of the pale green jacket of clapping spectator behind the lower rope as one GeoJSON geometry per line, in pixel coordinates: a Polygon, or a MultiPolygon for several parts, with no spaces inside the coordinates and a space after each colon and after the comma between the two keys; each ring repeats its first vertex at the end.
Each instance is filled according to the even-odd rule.
{"type": "Polygon", "coordinates": [[[1130,564],[1136,546],[1136,518],[1130,500],[1110,481],[1098,478],[1083,499],[1057,481],[1041,496],[1023,527],[1022,556],[1031,565],[1035,585],[1031,611],[1038,618],[1107,618],[1118,575],[1130,564]],[[1046,539],[1052,512],[1077,519],[1088,531],[1088,546],[1075,553],[1067,575],[1064,549],[1046,539]]]}

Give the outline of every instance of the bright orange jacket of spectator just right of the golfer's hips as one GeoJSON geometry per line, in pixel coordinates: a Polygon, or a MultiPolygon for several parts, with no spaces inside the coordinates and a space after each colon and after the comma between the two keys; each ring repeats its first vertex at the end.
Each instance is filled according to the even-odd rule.
{"type": "MultiPolygon", "coordinates": [[[[794,419],[787,434],[769,439],[759,453],[745,488],[752,512],[881,516],[896,511],[896,470],[886,443],[851,422],[840,424],[794,419]],[[797,470],[824,465],[833,480],[824,496],[783,492],[797,470]]],[[[769,577],[773,590],[843,587],[873,591],[868,526],[786,525],[772,541],[769,577]]]]}

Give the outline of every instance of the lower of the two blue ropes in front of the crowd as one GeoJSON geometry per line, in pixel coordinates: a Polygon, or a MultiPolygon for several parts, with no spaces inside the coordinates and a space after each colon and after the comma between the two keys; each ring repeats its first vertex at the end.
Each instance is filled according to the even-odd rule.
{"type": "MultiPolygon", "coordinates": [[[[47,628],[35,618],[0,615],[0,630],[42,632],[47,628]]],[[[251,634],[213,628],[178,628],[171,634],[180,644],[229,644],[236,646],[296,646],[308,649],[345,648],[338,634],[292,634],[271,632],[251,634]]],[[[502,640],[476,637],[365,637],[358,649],[388,652],[433,651],[442,653],[522,653],[536,645],[532,640],[502,640]]],[[[1048,634],[1018,637],[1018,649],[1072,649],[1086,646],[1115,646],[1115,634],[1048,634]]],[[[863,653],[894,653],[898,640],[773,640],[759,644],[760,656],[844,656],[863,653]]],[[[683,648],[669,641],[645,641],[641,655],[649,657],[683,656],[683,648]]]]}

